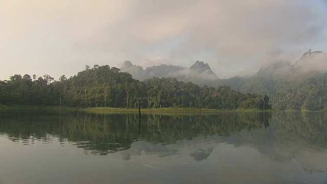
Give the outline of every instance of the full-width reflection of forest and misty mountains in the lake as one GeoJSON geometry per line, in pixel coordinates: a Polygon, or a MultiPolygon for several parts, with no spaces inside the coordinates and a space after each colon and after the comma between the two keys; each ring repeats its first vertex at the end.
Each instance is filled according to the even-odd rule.
{"type": "MultiPolygon", "coordinates": [[[[35,141],[73,143],[91,154],[106,155],[131,148],[132,143],[145,141],[152,145],[170,145],[195,137],[218,135],[235,146],[252,145],[262,154],[277,160],[289,159],[272,150],[273,144],[297,143],[327,147],[325,113],[216,113],[143,114],[141,125],[134,113],[70,113],[70,112],[1,112],[0,133],[21,144],[35,141]],[[6,116],[5,116],[6,115],[6,116]]],[[[211,154],[212,147],[189,153],[195,160],[211,154]]],[[[126,153],[141,154],[141,151],[126,153]]],[[[175,154],[170,150],[166,155],[175,154]]],[[[161,154],[165,156],[165,154],[161,154]]]]}

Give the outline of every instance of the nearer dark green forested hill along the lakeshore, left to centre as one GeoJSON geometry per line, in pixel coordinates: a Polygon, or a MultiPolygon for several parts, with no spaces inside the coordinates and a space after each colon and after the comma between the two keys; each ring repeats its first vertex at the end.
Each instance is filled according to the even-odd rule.
{"type": "Polygon", "coordinates": [[[228,86],[199,86],[174,78],[135,80],[129,73],[109,65],[94,65],[77,75],[58,81],[49,75],[32,77],[16,74],[0,81],[0,104],[165,108],[189,107],[208,109],[270,109],[269,97],[240,93],[228,86]]]}

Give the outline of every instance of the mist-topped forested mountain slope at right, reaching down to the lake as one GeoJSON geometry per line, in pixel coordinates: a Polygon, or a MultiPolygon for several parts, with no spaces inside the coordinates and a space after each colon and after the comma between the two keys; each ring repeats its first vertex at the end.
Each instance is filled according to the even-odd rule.
{"type": "Polygon", "coordinates": [[[267,94],[273,109],[321,110],[327,108],[327,55],[304,53],[294,64],[278,61],[247,77],[220,79],[241,93],[267,94]]]}

